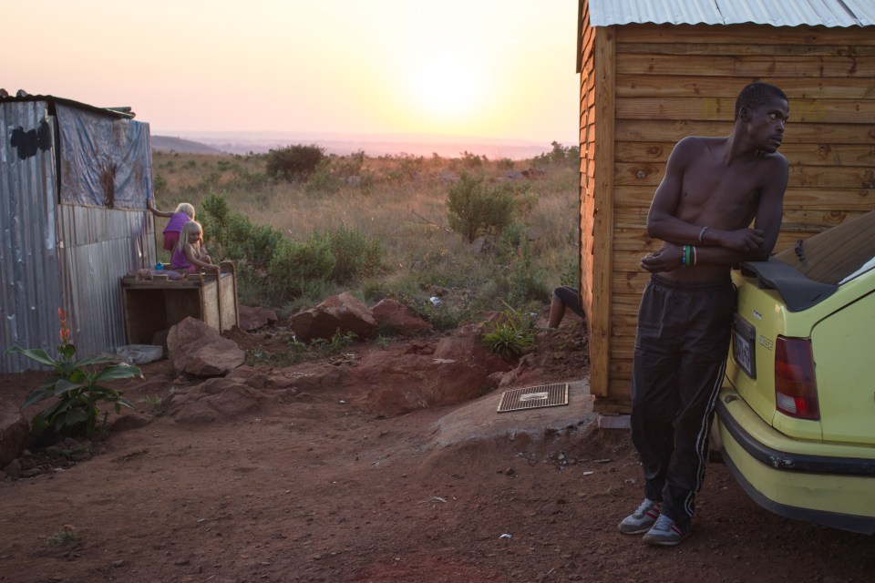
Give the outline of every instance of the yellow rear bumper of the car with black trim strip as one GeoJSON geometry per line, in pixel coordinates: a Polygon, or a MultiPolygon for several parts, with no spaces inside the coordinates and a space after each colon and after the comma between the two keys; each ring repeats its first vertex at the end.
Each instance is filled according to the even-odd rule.
{"type": "Polygon", "coordinates": [[[875,447],[791,439],[726,386],[715,427],[726,465],[757,504],[782,517],[875,534],[875,447]]]}

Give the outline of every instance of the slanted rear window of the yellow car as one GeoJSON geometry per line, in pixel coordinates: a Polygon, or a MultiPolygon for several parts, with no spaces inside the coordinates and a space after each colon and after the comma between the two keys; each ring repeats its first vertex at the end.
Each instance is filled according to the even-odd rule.
{"type": "Polygon", "coordinates": [[[841,285],[875,268],[875,210],[775,254],[808,279],[841,285]]]}

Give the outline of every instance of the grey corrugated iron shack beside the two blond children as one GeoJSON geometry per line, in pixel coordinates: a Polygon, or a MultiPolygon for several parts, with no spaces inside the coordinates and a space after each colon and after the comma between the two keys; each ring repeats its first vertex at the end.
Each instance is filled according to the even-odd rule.
{"type": "MultiPolygon", "coordinates": [[[[126,343],[120,278],[155,261],[149,124],[128,108],[0,94],[0,350],[126,343]]],[[[0,353],[0,372],[36,368],[0,353]]]]}

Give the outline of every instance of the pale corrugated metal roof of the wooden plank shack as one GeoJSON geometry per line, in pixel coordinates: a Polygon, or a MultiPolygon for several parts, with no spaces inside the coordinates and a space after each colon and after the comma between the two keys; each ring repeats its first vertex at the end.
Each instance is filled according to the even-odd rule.
{"type": "Polygon", "coordinates": [[[875,26],[872,0],[589,0],[590,26],[875,26]]]}

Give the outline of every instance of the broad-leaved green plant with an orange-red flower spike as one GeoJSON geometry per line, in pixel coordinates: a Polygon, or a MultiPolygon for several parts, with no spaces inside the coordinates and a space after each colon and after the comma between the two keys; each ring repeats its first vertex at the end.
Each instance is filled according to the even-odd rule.
{"type": "MultiPolygon", "coordinates": [[[[46,399],[55,399],[52,404],[34,416],[31,422],[32,435],[40,438],[49,432],[57,435],[90,437],[98,424],[100,414],[98,403],[112,404],[116,413],[121,410],[122,405],[134,408],[134,405],[121,393],[102,384],[133,376],[142,377],[142,373],[138,367],[121,363],[118,358],[104,354],[80,361],[73,360],[76,346],[70,343],[67,314],[60,308],[57,314],[61,320],[61,344],[57,347],[57,359],[39,348],[24,349],[12,346],[6,350],[6,353],[21,354],[55,371],[46,382],[28,394],[25,403],[21,405],[24,409],[46,399]]],[[[108,413],[103,415],[104,426],[108,415],[108,413]]]]}

